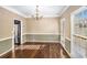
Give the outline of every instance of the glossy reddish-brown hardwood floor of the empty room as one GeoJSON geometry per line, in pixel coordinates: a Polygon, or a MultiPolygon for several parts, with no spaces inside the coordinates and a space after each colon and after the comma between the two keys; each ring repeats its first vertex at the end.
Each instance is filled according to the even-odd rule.
{"type": "Polygon", "coordinates": [[[3,58],[69,58],[59,43],[24,43],[3,58]]]}

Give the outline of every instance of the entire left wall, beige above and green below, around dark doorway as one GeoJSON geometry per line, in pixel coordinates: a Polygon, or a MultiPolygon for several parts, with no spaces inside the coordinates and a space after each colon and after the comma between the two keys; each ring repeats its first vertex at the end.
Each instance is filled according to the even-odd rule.
{"type": "Polygon", "coordinates": [[[14,19],[23,22],[23,33],[25,32],[25,19],[0,7],[0,55],[12,48],[12,31],[14,19]]]}

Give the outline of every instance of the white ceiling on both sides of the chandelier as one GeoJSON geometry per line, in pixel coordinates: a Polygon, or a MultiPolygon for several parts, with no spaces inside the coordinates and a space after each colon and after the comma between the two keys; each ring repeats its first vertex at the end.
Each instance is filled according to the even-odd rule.
{"type": "MultiPolygon", "coordinates": [[[[25,18],[31,18],[36,11],[36,6],[7,6],[3,8],[25,18]]],[[[39,11],[43,17],[59,17],[67,8],[67,6],[39,6],[39,11]]]]}

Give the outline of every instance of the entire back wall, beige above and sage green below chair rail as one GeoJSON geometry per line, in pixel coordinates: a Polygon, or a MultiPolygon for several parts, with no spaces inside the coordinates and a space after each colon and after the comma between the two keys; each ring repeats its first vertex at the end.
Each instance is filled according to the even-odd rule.
{"type": "Polygon", "coordinates": [[[59,19],[43,18],[34,20],[26,19],[26,42],[58,42],[59,19]]]}

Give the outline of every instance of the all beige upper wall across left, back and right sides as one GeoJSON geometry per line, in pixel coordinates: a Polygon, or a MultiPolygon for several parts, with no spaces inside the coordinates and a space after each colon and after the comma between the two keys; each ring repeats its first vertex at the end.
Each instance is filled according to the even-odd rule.
{"type": "MultiPolygon", "coordinates": [[[[67,37],[70,37],[70,13],[78,8],[79,7],[77,6],[72,6],[61,17],[61,19],[66,19],[65,35],[67,37]]],[[[23,33],[58,33],[61,28],[59,18],[43,18],[35,21],[33,19],[24,19],[15,13],[0,8],[0,39],[11,36],[14,19],[22,20],[23,33]]]]}

